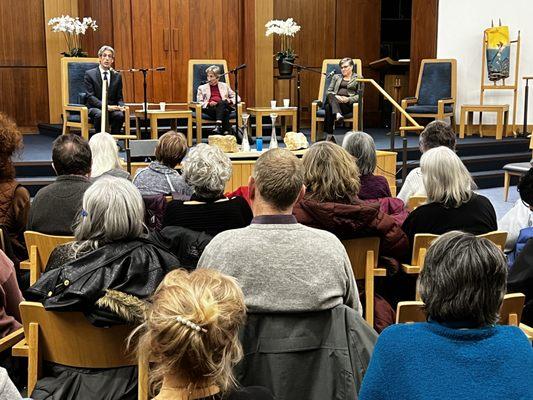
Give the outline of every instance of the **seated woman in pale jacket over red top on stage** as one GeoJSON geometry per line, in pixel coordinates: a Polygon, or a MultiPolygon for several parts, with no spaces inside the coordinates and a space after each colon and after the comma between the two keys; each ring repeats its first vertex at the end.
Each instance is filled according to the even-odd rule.
{"type": "Polygon", "coordinates": [[[218,66],[211,65],[205,72],[207,83],[198,87],[196,101],[202,104],[203,113],[216,120],[213,134],[229,134],[231,133],[230,114],[236,104],[235,92],[228,84],[219,81],[220,68],[218,66]]]}

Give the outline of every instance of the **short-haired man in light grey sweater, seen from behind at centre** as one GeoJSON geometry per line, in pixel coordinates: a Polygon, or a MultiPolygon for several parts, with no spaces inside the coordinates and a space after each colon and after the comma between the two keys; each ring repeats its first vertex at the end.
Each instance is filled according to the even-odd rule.
{"type": "Polygon", "coordinates": [[[249,180],[254,219],[222,232],[205,248],[199,268],[237,279],[251,312],[317,311],[346,304],[362,314],[352,267],[331,233],[296,222],[303,167],[290,151],[262,154],[249,180]]]}

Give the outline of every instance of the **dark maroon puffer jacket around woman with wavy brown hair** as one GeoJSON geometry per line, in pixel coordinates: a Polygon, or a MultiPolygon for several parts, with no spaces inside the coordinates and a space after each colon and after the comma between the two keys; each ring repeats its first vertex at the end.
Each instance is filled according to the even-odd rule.
{"type": "Polygon", "coordinates": [[[293,214],[301,224],[324,229],[341,240],[378,236],[380,257],[399,261],[409,253],[407,236],[393,217],[380,211],[379,203],[319,203],[304,198],[294,206],[293,214]]]}

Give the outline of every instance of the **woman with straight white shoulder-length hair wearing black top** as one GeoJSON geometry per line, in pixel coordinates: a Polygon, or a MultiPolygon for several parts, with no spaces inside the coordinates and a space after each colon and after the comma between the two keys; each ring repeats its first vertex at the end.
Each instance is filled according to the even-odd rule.
{"type": "Polygon", "coordinates": [[[428,150],[420,159],[427,204],[416,208],[403,223],[411,248],[417,233],[460,230],[480,235],[498,229],[489,199],[474,193],[475,183],[461,159],[448,147],[428,150]]]}

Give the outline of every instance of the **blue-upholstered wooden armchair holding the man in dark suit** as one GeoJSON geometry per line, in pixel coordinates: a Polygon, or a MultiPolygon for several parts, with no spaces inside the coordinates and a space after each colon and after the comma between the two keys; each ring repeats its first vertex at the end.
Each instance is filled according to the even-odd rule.
{"type": "MultiPolygon", "coordinates": [[[[81,136],[89,140],[89,108],[85,105],[87,94],[83,79],[85,72],[98,67],[98,58],[63,57],[61,59],[61,101],[63,104],[63,135],[74,128],[81,131],[81,136]]],[[[138,133],[138,132],[137,132],[138,133]]],[[[130,109],[124,111],[124,134],[113,135],[115,139],[136,139],[130,129],[130,109]]]]}

